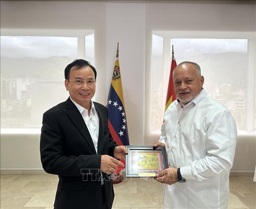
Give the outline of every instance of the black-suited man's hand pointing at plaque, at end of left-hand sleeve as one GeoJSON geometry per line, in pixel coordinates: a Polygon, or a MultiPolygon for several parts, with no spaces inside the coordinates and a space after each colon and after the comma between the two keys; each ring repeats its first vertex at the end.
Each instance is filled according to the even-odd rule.
{"type": "Polygon", "coordinates": [[[100,160],[100,171],[106,174],[111,174],[115,172],[118,166],[124,167],[119,160],[112,158],[111,156],[104,154],[101,156],[100,160]]]}

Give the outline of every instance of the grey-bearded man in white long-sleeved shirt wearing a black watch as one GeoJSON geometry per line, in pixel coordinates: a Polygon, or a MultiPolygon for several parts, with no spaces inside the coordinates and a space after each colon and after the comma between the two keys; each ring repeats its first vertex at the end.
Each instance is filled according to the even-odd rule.
{"type": "Polygon", "coordinates": [[[156,180],[166,184],[164,208],[228,208],[229,171],[236,147],[236,122],[203,89],[200,66],[185,61],[173,71],[173,101],[164,114],[161,137],[169,168],[156,180]]]}

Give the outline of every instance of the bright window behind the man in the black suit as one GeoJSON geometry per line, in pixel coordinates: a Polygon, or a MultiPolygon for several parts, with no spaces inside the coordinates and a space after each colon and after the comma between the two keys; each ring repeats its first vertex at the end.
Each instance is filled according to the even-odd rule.
{"type": "Polygon", "coordinates": [[[94,65],[94,34],[83,37],[81,53],[78,36],[1,36],[1,133],[40,129],[43,113],[67,100],[67,64],[88,58],[94,65]]]}

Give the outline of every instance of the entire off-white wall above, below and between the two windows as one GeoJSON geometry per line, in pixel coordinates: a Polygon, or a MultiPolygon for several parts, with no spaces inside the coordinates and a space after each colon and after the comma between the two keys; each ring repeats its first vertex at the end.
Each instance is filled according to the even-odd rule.
{"type": "MultiPolygon", "coordinates": [[[[255,31],[255,5],[1,1],[0,9],[1,28],[95,30],[98,77],[94,100],[102,104],[106,103],[119,41],[125,111],[133,145],[149,145],[159,137],[149,135],[146,125],[152,30],[255,31]]],[[[39,141],[39,134],[1,134],[1,169],[41,169],[39,141]]],[[[255,137],[239,136],[238,141],[233,170],[253,171],[255,137]]]]}

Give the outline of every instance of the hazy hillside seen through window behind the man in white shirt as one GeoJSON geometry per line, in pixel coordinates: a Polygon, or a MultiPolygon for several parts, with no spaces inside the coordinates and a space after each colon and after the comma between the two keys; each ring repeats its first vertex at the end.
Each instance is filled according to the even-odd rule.
{"type": "MultiPolygon", "coordinates": [[[[189,57],[176,54],[174,57],[177,64],[182,61],[193,61],[198,63],[201,67],[201,74],[207,82],[214,83],[218,86],[223,83],[230,83],[234,89],[246,88],[246,80],[248,79],[248,58],[246,53],[209,53],[189,57]]],[[[161,73],[158,73],[158,69],[162,67],[161,63],[162,56],[153,55],[152,67],[155,67],[156,69],[152,72],[152,78],[157,79],[158,82],[159,79],[161,79],[161,73]]]]}

